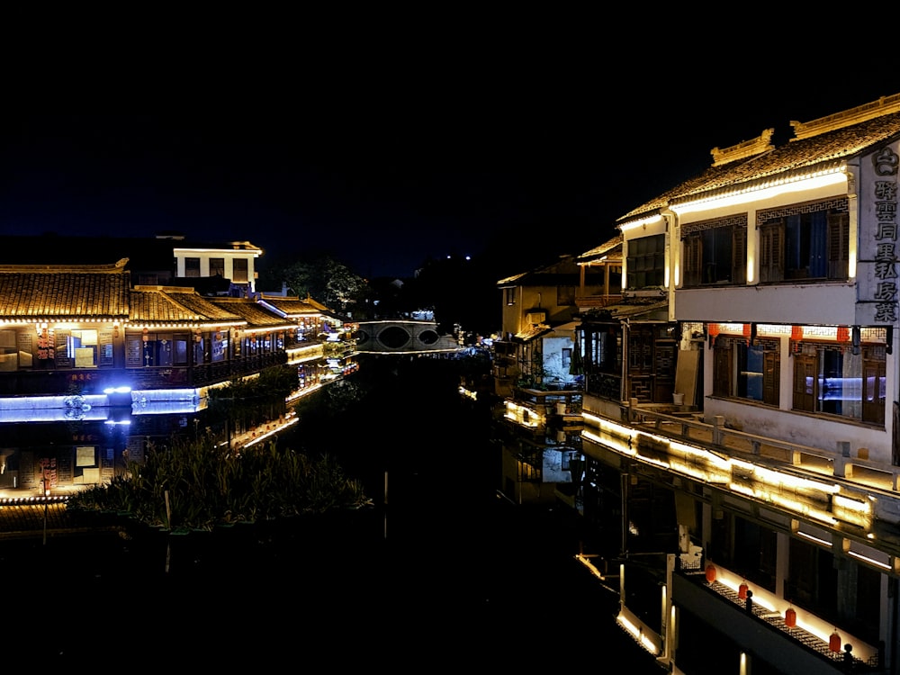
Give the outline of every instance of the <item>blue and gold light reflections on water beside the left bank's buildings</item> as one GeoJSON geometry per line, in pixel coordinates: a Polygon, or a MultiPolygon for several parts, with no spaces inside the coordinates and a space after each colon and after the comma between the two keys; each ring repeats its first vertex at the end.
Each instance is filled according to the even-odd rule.
{"type": "Polygon", "coordinates": [[[296,420],[284,397],[200,397],[195,390],[0,400],[4,497],[65,493],[106,482],[175,436],[247,446],[296,420]]]}

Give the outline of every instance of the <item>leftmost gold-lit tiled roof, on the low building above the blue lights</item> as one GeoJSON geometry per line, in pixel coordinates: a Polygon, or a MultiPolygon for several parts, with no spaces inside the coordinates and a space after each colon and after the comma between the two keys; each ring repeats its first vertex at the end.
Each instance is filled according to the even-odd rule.
{"type": "Polygon", "coordinates": [[[129,286],[121,265],[0,266],[0,318],[124,320],[129,286]]]}

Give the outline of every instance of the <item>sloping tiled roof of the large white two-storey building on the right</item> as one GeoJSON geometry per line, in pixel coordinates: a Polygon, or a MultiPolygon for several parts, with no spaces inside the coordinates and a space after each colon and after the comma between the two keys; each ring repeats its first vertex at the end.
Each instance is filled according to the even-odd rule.
{"type": "Polygon", "coordinates": [[[788,143],[754,157],[710,166],[700,175],[636,209],[617,222],[650,215],[679,202],[711,197],[716,193],[771,181],[815,169],[841,166],[848,158],[900,138],[900,112],[891,112],[815,136],[792,139],[788,143]]]}

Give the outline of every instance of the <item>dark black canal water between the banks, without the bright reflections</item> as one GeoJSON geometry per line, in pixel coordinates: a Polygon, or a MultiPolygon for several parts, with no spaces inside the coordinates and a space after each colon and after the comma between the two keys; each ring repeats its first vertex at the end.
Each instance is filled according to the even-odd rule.
{"type": "Polygon", "coordinates": [[[371,509],[208,536],[4,541],[5,662],[661,672],[616,625],[616,589],[576,561],[580,518],[498,496],[490,416],[458,396],[455,368],[370,367],[356,398],[301,410],[318,429],[303,447],[277,442],[337,457],[371,509]]]}

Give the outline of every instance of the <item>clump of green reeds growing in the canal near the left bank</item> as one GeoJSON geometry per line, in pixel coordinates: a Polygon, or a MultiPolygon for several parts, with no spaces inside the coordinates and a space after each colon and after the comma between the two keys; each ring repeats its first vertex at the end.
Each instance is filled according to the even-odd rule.
{"type": "Polygon", "coordinates": [[[371,506],[362,483],[329,455],[311,457],[275,442],[235,453],[211,437],[174,438],[129,461],[108,483],[77,493],[67,509],[114,512],[151,527],[217,525],[371,506]]]}

